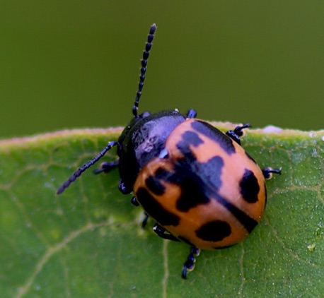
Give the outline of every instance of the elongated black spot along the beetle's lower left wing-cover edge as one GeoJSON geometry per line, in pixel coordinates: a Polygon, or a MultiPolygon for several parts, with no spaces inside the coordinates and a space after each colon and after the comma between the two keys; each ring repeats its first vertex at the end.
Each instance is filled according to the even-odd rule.
{"type": "Polygon", "coordinates": [[[139,188],[136,193],[137,201],[141,203],[146,213],[154,217],[160,225],[179,225],[180,218],[164,209],[156,199],[144,188],[139,188]]]}

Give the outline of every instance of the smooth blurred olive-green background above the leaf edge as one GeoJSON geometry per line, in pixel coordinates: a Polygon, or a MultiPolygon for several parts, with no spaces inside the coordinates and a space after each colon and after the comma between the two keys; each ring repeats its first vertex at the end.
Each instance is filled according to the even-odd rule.
{"type": "Polygon", "coordinates": [[[0,138],[140,111],[323,129],[324,1],[0,1],[0,138]]]}

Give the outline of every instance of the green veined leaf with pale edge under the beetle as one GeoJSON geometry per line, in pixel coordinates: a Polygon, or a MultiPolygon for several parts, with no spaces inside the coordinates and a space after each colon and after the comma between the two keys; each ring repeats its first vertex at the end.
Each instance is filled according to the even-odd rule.
{"type": "MultiPolygon", "coordinates": [[[[221,124],[217,124],[221,126],[221,124]]],[[[233,127],[223,125],[223,128],[233,127]]],[[[243,139],[267,181],[265,216],[241,244],[202,251],[141,229],[118,173],[85,172],[55,191],[121,129],[0,141],[1,297],[320,297],[324,293],[324,131],[250,130],[243,139]]],[[[115,160],[115,148],[105,160],[115,160]]],[[[96,167],[96,166],[95,166],[96,167]]]]}

